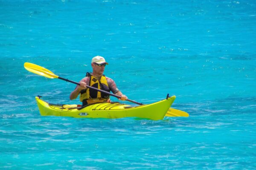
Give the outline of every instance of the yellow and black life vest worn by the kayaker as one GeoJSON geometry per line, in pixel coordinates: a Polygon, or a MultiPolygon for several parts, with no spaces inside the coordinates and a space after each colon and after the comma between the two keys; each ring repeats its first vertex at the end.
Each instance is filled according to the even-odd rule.
{"type": "MultiPolygon", "coordinates": [[[[110,92],[108,88],[108,82],[105,75],[102,75],[100,80],[91,75],[90,73],[86,74],[86,77],[90,77],[90,86],[94,88],[98,88],[103,91],[110,92]]],[[[80,92],[80,101],[83,102],[83,105],[87,105],[88,103],[92,103],[92,101],[107,101],[109,99],[109,95],[105,93],[101,93],[94,89],[84,89],[80,92]],[[89,101],[90,100],[90,101],[89,101]]]]}

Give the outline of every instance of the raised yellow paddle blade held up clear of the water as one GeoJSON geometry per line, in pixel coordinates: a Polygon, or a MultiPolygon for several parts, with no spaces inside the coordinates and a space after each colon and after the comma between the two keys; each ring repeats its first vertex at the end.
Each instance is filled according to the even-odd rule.
{"type": "Polygon", "coordinates": [[[25,62],[24,63],[24,67],[26,68],[26,70],[50,78],[50,79],[55,79],[58,78],[58,76],[56,76],[54,73],[52,73],[52,71],[47,70],[46,68],[43,68],[39,65],[36,64],[32,64],[30,62],[25,62]]]}

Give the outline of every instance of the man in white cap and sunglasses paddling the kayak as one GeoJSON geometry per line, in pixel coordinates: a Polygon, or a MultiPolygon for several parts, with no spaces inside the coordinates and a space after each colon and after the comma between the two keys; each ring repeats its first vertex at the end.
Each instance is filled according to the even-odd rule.
{"type": "Polygon", "coordinates": [[[86,77],[81,79],[80,85],[77,85],[75,90],[71,92],[70,100],[76,99],[80,94],[80,101],[83,102],[83,106],[95,102],[111,102],[110,96],[108,94],[101,93],[94,89],[86,88],[86,85],[107,92],[112,91],[113,94],[121,96],[121,100],[126,100],[127,96],[123,95],[122,92],[118,90],[113,79],[103,75],[106,65],[108,65],[108,62],[106,62],[103,57],[93,57],[91,62],[93,73],[87,73],[86,77]]]}

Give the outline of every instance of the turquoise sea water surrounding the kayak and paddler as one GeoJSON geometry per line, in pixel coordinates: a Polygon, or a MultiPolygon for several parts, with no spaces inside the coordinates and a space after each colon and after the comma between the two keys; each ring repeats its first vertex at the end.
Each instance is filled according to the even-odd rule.
{"type": "Polygon", "coordinates": [[[254,0],[0,0],[0,169],[256,169],[255,34],[254,0]],[[35,96],[75,85],[24,62],[79,81],[96,55],[129,99],[190,117],[41,116],[35,96]]]}

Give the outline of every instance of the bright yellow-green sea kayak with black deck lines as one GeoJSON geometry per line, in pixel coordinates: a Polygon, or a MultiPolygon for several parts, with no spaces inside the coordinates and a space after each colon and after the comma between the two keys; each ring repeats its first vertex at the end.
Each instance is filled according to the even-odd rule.
{"type": "Polygon", "coordinates": [[[39,96],[35,97],[42,116],[107,119],[137,117],[152,120],[163,119],[175,98],[175,96],[167,96],[166,99],[159,102],[139,106],[126,105],[119,102],[98,102],[81,107],[81,105],[51,104],[40,99],[39,96]]]}

